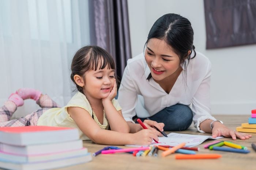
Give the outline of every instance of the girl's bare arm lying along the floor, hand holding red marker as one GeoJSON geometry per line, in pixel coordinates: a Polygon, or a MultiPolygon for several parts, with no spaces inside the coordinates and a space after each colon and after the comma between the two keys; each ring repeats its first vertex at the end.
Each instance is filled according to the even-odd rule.
{"type": "Polygon", "coordinates": [[[157,134],[144,129],[135,134],[102,130],[91,115],[80,107],[68,107],[68,113],[79,129],[93,142],[105,145],[150,145],[152,138],[158,141],[157,134]]]}

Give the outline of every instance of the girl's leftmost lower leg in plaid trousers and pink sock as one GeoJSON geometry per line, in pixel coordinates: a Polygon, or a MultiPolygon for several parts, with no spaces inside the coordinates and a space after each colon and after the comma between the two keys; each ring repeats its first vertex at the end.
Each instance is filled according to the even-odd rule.
{"type": "Polygon", "coordinates": [[[17,110],[18,106],[22,106],[24,101],[17,94],[11,94],[4,106],[0,107],[0,122],[11,120],[12,115],[17,110]]]}

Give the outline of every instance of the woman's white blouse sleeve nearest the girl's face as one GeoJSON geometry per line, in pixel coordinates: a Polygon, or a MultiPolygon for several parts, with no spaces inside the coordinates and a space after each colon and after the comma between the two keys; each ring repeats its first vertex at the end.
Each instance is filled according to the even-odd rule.
{"type": "Polygon", "coordinates": [[[124,74],[118,90],[118,103],[122,107],[124,119],[133,122],[132,117],[136,115],[135,106],[138,102],[137,90],[131,78],[128,66],[124,69],[124,74]]]}

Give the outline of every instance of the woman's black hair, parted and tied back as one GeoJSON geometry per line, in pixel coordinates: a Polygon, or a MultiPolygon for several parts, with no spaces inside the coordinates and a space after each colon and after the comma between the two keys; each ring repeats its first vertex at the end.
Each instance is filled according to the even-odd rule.
{"type": "MultiPolygon", "coordinates": [[[[145,46],[152,38],[164,40],[179,56],[181,66],[185,68],[184,71],[186,74],[189,60],[196,56],[195,46],[193,46],[193,36],[194,32],[191,23],[187,18],[178,14],[168,13],[155,21],[148,33],[145,46]],[[192,58],[191,53],[188,55],[189,50],[191,50],[191,53],[192,51],[195,52],[195,55],[192,58]],[[188,59],[187,63],[185,62],[186,59],[188,59]]],[[[150,78],[152,78],[151,73],[148,75],[147,80],[150,78]]]]}

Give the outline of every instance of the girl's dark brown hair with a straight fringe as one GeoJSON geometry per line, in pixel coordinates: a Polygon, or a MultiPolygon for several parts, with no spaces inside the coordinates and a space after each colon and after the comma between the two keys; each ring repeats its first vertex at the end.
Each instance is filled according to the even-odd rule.
{"type": "MultiPolygon", "coordinates": [[[[98,67],[104,69],[106,66],[115,70],[114,60],[106,50],[98,46],[84,46],[76,52],[72,60],[70,78],[76,84],[74,80],[76,74],[84,79],[86,71],[96,71],[98,67]]],[[[76,84],[76,88],[84,94],[83,87],[76,84]]]]}

